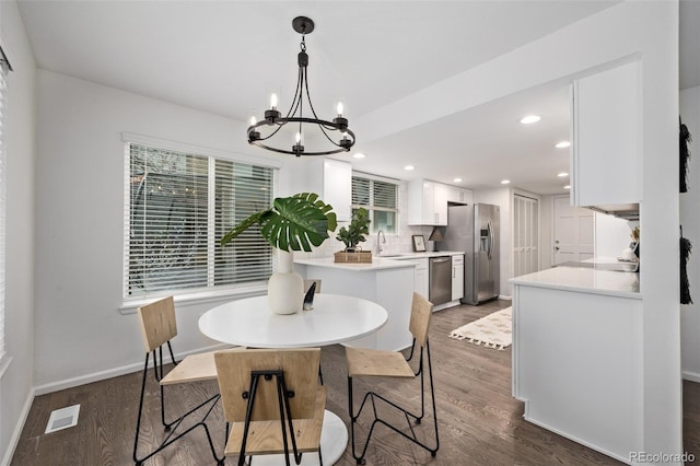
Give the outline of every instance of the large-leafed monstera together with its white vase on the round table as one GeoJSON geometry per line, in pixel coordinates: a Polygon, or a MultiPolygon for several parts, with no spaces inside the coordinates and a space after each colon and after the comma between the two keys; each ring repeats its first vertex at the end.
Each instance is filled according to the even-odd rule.
{"type": "Polygon", "coordinates": [[[314,193],[276,198],[268,209],[255,212],[235,225],[222,238],[224,246],[253,225],[278,249],[279,269],[268,282],[268,305],[275,314],[294,314],[302,307],[304,280],[293,271],[291,252],[311,252],[320,246],[338,226],[336,213],[314,193]]]}

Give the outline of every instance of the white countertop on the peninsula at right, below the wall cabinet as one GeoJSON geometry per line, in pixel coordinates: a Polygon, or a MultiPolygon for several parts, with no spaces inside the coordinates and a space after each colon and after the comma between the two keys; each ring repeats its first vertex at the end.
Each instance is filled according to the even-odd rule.
{"type": "Polygon", "coordinates": [[[513,284],[641,300],[639,273],[580,267],[553,267],[515,277],[513,284]]]}

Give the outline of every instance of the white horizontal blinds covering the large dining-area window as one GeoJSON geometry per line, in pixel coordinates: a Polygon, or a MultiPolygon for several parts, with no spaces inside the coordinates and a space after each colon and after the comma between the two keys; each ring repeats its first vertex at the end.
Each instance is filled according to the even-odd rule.
{"type": "Polygon", "coordinates": [[[272,168],[138,143],[127,152],[125,298],[269,278],[272,248],[256,228],[219,241],[271,205],[272,168]]]}

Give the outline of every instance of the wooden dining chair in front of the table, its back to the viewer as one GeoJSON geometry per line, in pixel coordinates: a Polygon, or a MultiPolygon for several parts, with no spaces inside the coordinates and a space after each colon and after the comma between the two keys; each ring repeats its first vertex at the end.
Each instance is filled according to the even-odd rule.
{"type": "Polygon", "coordinates": [[[252,455],[320,454],[326,388],[316,380],[319,348],[218,351],[219,391],[228,422],[225,454],[238,465],[252,455]]]}

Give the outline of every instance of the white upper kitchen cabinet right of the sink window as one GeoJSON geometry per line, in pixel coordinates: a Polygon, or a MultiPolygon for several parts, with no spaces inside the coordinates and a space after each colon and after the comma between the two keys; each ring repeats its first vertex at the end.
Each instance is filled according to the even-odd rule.
{"type": "Polygon", "coordinates": [[[408,224],[447,224],[447,185],[427,179],[408,183],[408,224]]]}

